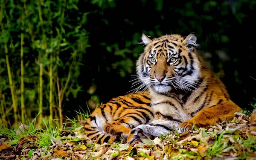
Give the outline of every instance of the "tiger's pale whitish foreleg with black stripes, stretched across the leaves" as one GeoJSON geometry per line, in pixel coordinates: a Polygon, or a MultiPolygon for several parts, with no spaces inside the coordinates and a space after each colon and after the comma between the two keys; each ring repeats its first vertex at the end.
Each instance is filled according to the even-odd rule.
{"type": "Polygon", "coordinates": [[[139,125],[136,128],[131,129],[127,142],[133,143],[134,141],[140,141],[140,139],[146,137],[155,137],[163,134],[168,134],[174,128],[180,125],[180,121],[155,119],[145,125],[139,125]]]}

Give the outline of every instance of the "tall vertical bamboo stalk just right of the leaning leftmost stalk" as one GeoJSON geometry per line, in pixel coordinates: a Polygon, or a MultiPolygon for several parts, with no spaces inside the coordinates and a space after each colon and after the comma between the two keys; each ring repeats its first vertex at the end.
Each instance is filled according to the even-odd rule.
{"type": "Polygon", "coordinates": [[[21,42],[20,42],[20,72],[21,72],[21,82],[20,82],[20,92],[21,92],[21,122],[25,122],[25,104],[24,104],[24,65],[23,65],[23,44],[24,44],[24,12],[26,8],[26,0],[24,0],[22,17],[21,17],[21,42]]]}

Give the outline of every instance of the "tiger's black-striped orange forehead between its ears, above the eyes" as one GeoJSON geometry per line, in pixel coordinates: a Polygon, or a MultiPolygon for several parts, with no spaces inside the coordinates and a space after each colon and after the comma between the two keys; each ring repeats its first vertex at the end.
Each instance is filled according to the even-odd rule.
{"type": "Polygon", "coordinates": [[[180,35],[164,35],[153,39],[149,50],[149,55],[156,58],[170,58],[178,54],[183,48],[184,38],[180,35]]]}

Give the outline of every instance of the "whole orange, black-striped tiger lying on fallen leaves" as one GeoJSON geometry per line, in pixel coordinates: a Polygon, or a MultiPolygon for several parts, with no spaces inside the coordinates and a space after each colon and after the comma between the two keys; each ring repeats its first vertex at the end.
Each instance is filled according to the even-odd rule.
{"type": "Polygon", "coordinates": [[[159,38],[143,34],[141,44],[145,47],[137,60],[136,72],[142,83],[138,88],[145,87],[138,92],[148,99],[138,92],[113,98],[86,121],[87,137],[97,138],[98,143],[123,137],[131,144],[174,130],[183,133],[220,120],[232,120],[241,108],[205,65],[196,50],[196,40],[195,33],[159,38]],[[132,100],[133,96],[139,103],[132,100]]]}

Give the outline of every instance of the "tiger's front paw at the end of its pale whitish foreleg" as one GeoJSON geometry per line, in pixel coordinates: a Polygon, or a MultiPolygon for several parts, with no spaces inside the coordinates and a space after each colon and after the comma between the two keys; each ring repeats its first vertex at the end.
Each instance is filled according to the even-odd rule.
{"type": "Polygon", "coordinates": [[[154,139],[154,136],[145,135],[141,128],[134,128],[131,130],[130,134],[128,135],[127,143],[131,144],[134,142],[142,142],[141,139],[147,139],[147,138],[154,139]]]}

